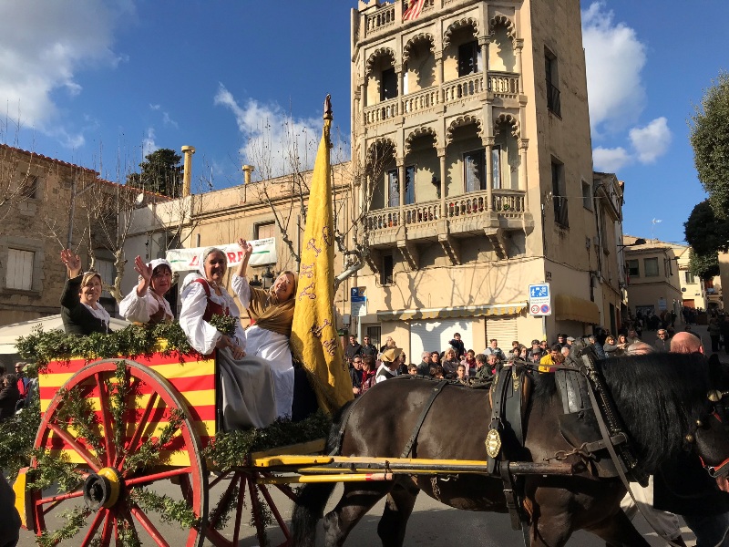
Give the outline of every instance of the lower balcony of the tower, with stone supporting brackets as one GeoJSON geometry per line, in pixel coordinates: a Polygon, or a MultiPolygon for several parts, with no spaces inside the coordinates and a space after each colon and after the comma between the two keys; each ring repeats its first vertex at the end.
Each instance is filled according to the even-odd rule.
{"type": "Polygon", "coordinates": [[[402,209],[372,211],[365,222],[373,249],[397,246],[414,267],[417,244],[441,243],[453,263],[459,263],[454,240],[486,236],[494,242],[499,256],[505,256],[504,232],[531,232],[534,227],[526,211],[525,192],[519,190],[492,191],[490,207],[488,191],[473,191],[447,198],[445,211],[441,201],[425,201],[402,209]]]}

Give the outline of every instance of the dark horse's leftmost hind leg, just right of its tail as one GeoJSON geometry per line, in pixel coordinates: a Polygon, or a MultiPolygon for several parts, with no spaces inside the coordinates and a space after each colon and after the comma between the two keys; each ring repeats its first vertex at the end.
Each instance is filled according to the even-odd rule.
{"type": "Polygon", "coordinates": [[[345,482],[342,499],[334,510],[324,515],[324,545],[326,547],[344,545],[344,540],[357,522],[392,488],[393,483],[389,480],[369,483],[345,482]]]}

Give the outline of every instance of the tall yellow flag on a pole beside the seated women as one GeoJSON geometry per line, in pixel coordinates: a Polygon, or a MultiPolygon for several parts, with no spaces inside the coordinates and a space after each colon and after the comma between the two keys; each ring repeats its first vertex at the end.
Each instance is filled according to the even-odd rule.
{"type": "Polygon", "coordinates": [[[334,324],[334,214],[329,164],[332,115],[328,96],[326,105],[309,191],[291,346],[309,372],[319,407],[333,413],[354,396],[334,324]]]}

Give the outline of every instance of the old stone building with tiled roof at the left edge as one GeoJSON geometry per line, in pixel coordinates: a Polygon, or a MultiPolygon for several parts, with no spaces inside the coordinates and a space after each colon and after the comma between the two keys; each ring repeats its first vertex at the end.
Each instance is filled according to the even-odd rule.
{"type": "MultiPolygon", "coordinates": [[[[0,145],[0,325],[60,313],[66,269],[59,253],[78,249],[88,264],[87,246],[79,248],[87,222],[78,193],[96,185],[94,170],[0,145]]],[[[107,281],[110,263],[98,268],[107,281]]]]}

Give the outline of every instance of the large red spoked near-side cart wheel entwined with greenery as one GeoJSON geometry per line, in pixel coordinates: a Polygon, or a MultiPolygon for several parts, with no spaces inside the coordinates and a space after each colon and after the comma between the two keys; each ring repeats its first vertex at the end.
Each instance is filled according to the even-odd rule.
{"type": "MultiPolygon", "coordinates": [[[[199,546],[208,472],[181,401],[158,372],[127,359],[98,361],[68,379],[46,409],[35,448],[45,449],[51,462],[77,464],[78,480],[31,491],[36,533],[78,534],[83,540],[71,541],[82,546],[199,546]],[[189,530],[180,530],[180,521],[189,530]]],[[[46,457],[31,462],[36,476],[46,457]]]]}

